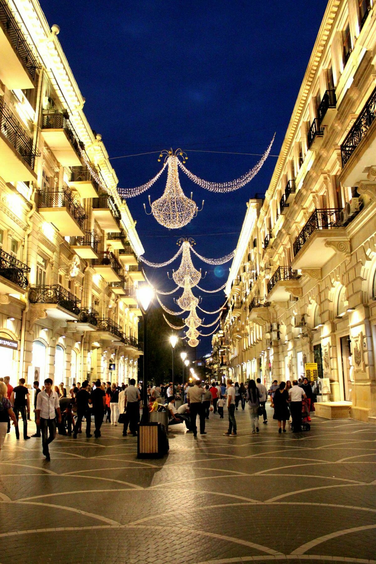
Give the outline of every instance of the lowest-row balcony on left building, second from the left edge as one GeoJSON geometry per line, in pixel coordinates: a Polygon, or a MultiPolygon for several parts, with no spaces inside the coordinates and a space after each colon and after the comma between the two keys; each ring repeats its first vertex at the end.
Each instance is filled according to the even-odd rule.
{"type": "Polygon", "coordinates": [[[80,311],[80,300],[60,284],[33,286],[30,288],[29,301],[45,305],[47,316],[52,319],[74,321],[80,311]]]}

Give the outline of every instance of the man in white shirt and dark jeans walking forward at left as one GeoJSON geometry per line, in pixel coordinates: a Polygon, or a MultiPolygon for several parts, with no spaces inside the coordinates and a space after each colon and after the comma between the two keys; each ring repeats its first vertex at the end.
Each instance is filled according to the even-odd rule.
{"type": "Polygon", "coordinates": [[[46,378],[45,389],[37,397],[36,424],[41,426],[43,455],[45,455],[47,461],[51,460],[48,444],[52,443],[52,440],[56,437],[55,409],[57,412],[57,422],[61,423],[59,396],[56,391],[51,390],[51,386],[51,378],[46,378]],[[50,433],[49,437],[48,432],[50,433]]]}

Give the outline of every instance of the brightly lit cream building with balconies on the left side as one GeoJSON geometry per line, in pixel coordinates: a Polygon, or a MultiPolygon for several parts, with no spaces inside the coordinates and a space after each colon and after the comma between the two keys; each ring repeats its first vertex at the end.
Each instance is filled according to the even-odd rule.
{"type": "Polygon", "coordinates": [[[144,249],[57,33],[0,0],[0,364],[30,389],[128,382],[142,354],[144,249]]]}

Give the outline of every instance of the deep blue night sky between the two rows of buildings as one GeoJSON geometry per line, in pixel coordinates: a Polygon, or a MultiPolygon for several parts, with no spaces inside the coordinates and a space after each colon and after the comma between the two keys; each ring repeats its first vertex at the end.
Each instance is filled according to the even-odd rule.
{"type": "MultiPolygon", "coordinates": [[[[110,157],[182,147],[189,169],[223,182],[244,174],[259,157],[189,149],[263,153],[276,131],[271,152],[278,154],[326,0],[41,0],[41,5],[48,23],[61,28],[59,40],[86,98],[86,116],[110,157]]],[[[152,178],[161,168],[157,158],[112,160],[119,186],[131,188],[152,178]]],[[[251,183],[227,195],[202,190],[181,173],[185,194],[193,191],[197,204],[205,199],[205,205],[180,231],[167,231],[145,215],[147,195],[127,200],[145,257],[165,261],[175,254],[179,236],[194,237],[197,251],[207,257],[231,252],[246,201],[266,191],[275,162],[269,157],[251,183]]],[[[163,175],[149,191],[152,201],[162,195],[165,182],[163,175]]],[[[198,259],[194,264],[209,267],[198,259]]],[[[222,285],[230,264],[219,276],[209,267],[202,287],[222,285]]],[[[173,287],[166,270],[148,269],[164,290],[173,287]]],[[[223,292],[202,296],[206,310],[224,301],[223,292]]],[[[175,307],[172,300],[165,303],[175,307]]],[[[205,323],[212,320],[206,316],[205,323]]],[[[197,354],[210,348],[211,337],[202,339],[197,354]]]]}

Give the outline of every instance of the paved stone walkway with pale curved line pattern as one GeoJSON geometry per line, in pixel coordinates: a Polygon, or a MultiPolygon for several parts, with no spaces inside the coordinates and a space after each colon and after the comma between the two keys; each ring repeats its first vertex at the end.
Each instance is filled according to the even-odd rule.
{"type": "MultiPolygon", "coordinates": [[[[162,460],[103,424],[100,439],[15,439],[0,453],[0,562],[376,564],[376,427],[313,418],[311,431],[169,433],[162,460]]],[[[20,422],[22,427],[22,423],[20,422]]],[[[34,425],[30,424],[30,434],[34,425]]],[[[22,436],[22,435],[21,435],[22,436]]]]}

